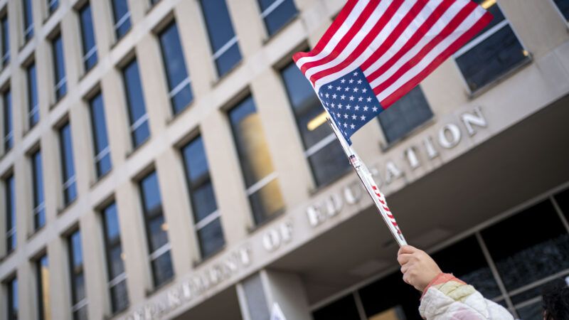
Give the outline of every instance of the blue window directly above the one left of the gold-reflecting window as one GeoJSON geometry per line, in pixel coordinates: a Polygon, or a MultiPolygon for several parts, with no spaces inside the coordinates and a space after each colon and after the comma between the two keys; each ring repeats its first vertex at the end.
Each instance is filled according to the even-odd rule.
{"type": "Polygon", "coordinates": [[[192,92],[176,22],[164,28],[164,31],[159,34],[159,39],[170,90],[168,95],[174,114],[178,114],[191,102],[192,92]]]}

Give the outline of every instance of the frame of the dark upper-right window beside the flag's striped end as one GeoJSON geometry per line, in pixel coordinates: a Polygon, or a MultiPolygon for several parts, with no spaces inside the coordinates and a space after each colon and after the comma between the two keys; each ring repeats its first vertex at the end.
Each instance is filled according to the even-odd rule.
{"type": "Polygon", "coordinates": [[[526,47],[526,45],[523,43],[522,39],[520,38],[519,34],[516,32],[516,28],[514,28],[514,26],[511,24],[510,19],[508,18],[508,15],[506,14],[506,12],[504,12],[504,10],[502,10],[499,1],[496,1],[496,6],[498,6],[498,9],[501,11],[501,14],[504,15],[504,20],[500,21],[499,23],[497,23],[495,26],[493,26],[492,28],[489,28],[488,30],[484,31],[484,33],[477,35],[476,38],[472,38],[469,43],[465,44],[464,46],[462,46],[462,48],[459,48],[455,53],[453,53],[452,56],[452,61],[454,63],[454,66],[457,68],[457,71],[460,75],[460,79],[462,80],[462,83],[465,87],[465,89],[468,92],[468,95],[470,97],[474,97],[475,95],[477,95],[480,92],[484,92],[487,88],[494,86],[497,82],[499,82],[500,80],[507,78],[509,75],[511,75],[512,73],[515,73],[517,70],[519,70],[519,68],[521,68],[521,66],[526,65],[526,63],[531,61],[531,53],[529,53],[528,48],[526,47]],[[462,74],[462,71],[460,70],[459,64],[457,63],[457,58],[459,58],[460,56],[464,55],[465,53],[467,53],[469,50],[475,48],[477,45],[479,45],[479,43],[482,43],[483,41],[485,41],[487,38],[490,38],[491,36],[494,36],[494,34],[498,33],[499,31],[501,31],[503,28],[506,28],[506,26],[509,26],[509,28],[511,29],[512,33],[514,33],[514,36],[516,36],[516,40],[520,43],[521,48],[523,48],[523,52],[527,53],[526,58],[522,59],[517,65],[514,65],[512,68],[510,68],[509,70],[506,70],[504,73],[501,73],[500,75],[498,75],[496,78],[494,78],[493,80],[489,81],[488,83],[486,83],[486,85],[482,85],[482,87],[478,87],[476,90],[472,90],[470,89],[467,79],[466,77],[464,77],[464,75],[462,74]]]}

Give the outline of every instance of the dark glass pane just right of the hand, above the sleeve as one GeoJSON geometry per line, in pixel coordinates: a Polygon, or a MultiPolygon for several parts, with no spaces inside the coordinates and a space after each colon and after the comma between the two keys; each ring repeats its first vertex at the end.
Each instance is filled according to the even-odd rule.
{"type": "Polygon", "coordinates": [[[494,299],[501,295],[474,235],[436,252],[432,258],[443,272],[452,273],[467,284],[472,284],[484,297],[494,299]],[[468,252],[468,255],[464,255],[464,252],[468,252]]]}

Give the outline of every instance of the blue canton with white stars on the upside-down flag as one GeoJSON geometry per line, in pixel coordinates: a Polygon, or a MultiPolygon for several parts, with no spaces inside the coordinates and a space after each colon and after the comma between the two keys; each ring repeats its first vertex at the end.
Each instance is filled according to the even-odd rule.
{"type": "Polygon", "coordinates": [[[383,111],[360,68],[322,85],[318,95],[349,144],[354,132],[383,111]]]}

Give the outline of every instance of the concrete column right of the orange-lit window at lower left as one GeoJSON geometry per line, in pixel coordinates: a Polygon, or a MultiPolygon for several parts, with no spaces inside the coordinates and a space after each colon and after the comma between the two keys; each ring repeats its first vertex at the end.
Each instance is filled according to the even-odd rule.
{"type": "MultiPolygon", "coordinates": [[[[84,235],[81,236],[84,237],[84,235]]],[[[48,253],[51,319],[70,320],[72,318],[71,289],[69,279],[69,257],[65,238],[56,237],[49,242],[48,253]]]]}

